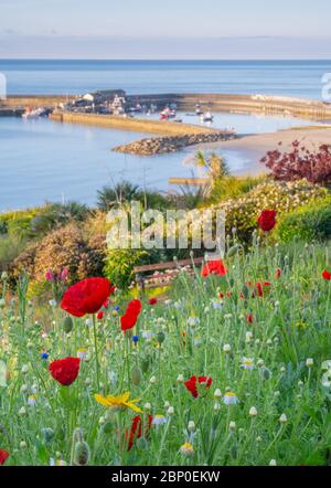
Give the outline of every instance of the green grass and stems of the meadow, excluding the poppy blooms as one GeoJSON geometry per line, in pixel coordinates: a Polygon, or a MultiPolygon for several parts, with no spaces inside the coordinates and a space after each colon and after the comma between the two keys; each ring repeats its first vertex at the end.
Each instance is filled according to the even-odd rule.
{"type": "Polygon", "coordinates": [[[0,386],[0,448],[10,453],[7,465],[47,465],[50,458],[70,464],[77,427],[89,446],[90,465],[330,464],[331,392],[321,384],[321,364],[331,359],[331,284],[321,277],[328,266],[330,270],[329,254],[330,245],[255,247],[226,259],[226,278],[182,276],[169,293],[170,301],[151,307],[143,300],[137,348],[120,331],[125,304],[115,298],[119,315],[110,308],[97,322],[100,391],[93,327],[86,318],[75,319],[67,335],[60,308],[45,305],[41,315],[40,304],[26,304],[24,314],[24,297],[21,303],[8,297],[0,308],[0,361],[10,373],[7,386],[0,386]],[[277,268],[282,270],[278,279],[277,268]],[[246,282],[265,280],[271,286],[264,297],[241,298],[246,282]],[[232,296],[221,299],[220,291],[232,296]],[[194,327],[190,317],[199,319],[194,327]],[[143,331],[153,336],[145,339],[143,331]],[[225,344],[231,352],[224,352],[225,344]],[[78,348],[87,350],[88,360],[82,361],[75,383],[60,386],[49,362],[76,356],[78,348]],[[49,360],[41,359],[43,351],[49,360]],[[243,358],[254,359],[255,368],[243,369],[243,358]],[[307,365],[309,358],[312,367],[307,365]],[[213,383],[193,399],[178,381],[180,374],[185,380],[207,375],[213,383]],[[220,399],[214,397],[216,389],[220,399]],[[227,390],[238,404],[224,404],[227,390]],[[140,399],[143,416],[150,403],[152,415],[167,418],[130,452],[125,431],[134,412],[110,412],[94,400],[95,393],[125,391],[140,399]],[[36,404],[29,405],[34,393],[36,404]],[[253,406],[256,416],[249,415],[253,406]],[[279,422],[282,414],[286,423],[279,422]],[[194,431],[188,429],[190,421],[194,431]],[[179,452],[185,442],[193,445],[191,457],[179,452]]]}

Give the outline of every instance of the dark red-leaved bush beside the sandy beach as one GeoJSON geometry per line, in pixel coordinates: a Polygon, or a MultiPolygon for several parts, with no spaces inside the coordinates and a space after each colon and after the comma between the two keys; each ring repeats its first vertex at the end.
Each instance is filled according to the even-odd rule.
{"type": "Polygon", "coordinates": [[[295,140],[289,152],[280,152],[279,149],[268,151],[261,162],[271,170],[276,180],[306,178],[311,183],[331,183],[331,145],[322,145],[318,151],[311,151],[303,141],[295,140]]]}

